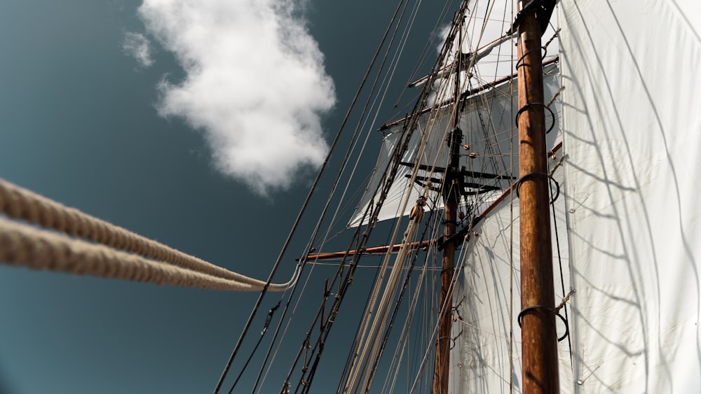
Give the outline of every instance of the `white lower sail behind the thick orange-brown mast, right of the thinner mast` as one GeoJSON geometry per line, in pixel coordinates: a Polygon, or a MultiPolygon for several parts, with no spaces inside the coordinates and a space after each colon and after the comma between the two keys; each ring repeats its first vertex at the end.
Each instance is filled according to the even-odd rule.
{"type": "MultiPolygon", "coordinates": [[[[550,169],[557,167],[562,151],[557,150],[555,155],[548,161],[550,169]]],[[[561,186],[563,174],[562,167],[559,167],[552,176],[561,186]]],[[[555,183],[551,185],[553,194],[556,194],[555,183]]],[[[562,195],[554,200],[554,211],[554,216],[551,211],[554,288],[555,299],[560,300],[570,290],[569,287],[563,290],[560,275],[562,273],[565,283],[569,283],[565,199],[562,195]]],[[[484,218],[473,229],[475,233],[468,241],[463,258],[461,292],[454,297],[457,310],[454,317],[458,319],[453,325],[456,342],[451,354],[451,392],[510,393],[510,385],[513,384],[515,393],[520,393],[521,330],[517,318],[521,309],[521,280],[519,202],[516,193],[505,193],[500,201],[489,207],[484,218]],[[514,330],[513,339],[510,337],[511,327],[514,330]],[[510,344],[513,349],[512,364],[509,360],[510,344]]],[[[564,310],[561,314],[565,315],[564,310]]],[[[564,336],[565,325],[562,321],[557,323],[558,335],[564,336]]],[[[571,380],[568,344],[566,340],[559,343],[561,381],[571,380]]]]}

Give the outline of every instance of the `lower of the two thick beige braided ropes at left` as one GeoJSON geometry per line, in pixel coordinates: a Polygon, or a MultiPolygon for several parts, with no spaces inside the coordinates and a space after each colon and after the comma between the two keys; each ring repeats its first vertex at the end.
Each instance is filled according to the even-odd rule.
{"type": "Polygon", "coordinates": [[[265,285],[194,272],[4,218],[0,218],[0,261],[32,269],[187,288],[260,291],[265,285]]]}

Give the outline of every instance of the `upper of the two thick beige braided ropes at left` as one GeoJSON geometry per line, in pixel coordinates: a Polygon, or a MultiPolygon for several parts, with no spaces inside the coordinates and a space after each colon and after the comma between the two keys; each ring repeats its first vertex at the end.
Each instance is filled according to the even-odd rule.
{"type": "MultiPolygon", "coordinates": [[[[161,243],[142,237],[139,234],[125,230],[104,220],[83,213],[78,209],[69,208],[51,199],[20,188],[0,179],[0,211],[15,219],[27,220],[43,227],[64,232],[74,237],[121,249],[167,262],[177,267],[190,269],[203,274],[217,276],[240,283],[254,286],[264,286],[264,281],[231,272],[217,267],[192,255],[182,253],[161,243]]],[[[271,284],[269,289],[284,288],[284,285],[271,284]]]]}

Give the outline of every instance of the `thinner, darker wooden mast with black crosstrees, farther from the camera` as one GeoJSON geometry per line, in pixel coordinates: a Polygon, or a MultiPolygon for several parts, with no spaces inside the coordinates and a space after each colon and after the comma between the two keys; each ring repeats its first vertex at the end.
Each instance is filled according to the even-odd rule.
{"type": "MultiPolygon", "coordinates": [[[[463,15],[458,15],[461,18],[463,15]]],[[[455,265],[455,235],[458,225],[458,202],[463,190],[463,174],[460,170],[460,147],[463,141],[463,133],[460,124],[459,103],[460,97],[460,55],[462,44],[462,23],[458,26],[458,40],[456,48],[455,87],[454,87],[454,111],[449,134],[448,146],[450,149],[450,162],[445,169],[443,178],[443,200],[445,221],[443,228],[443,257],[441,260],[440,276],[440,303],[442,313],[438,316],[438,338],[436,344],[435,364],[433,365],[433,394],[448,394],[448,377],[450,366],[450,342],[451,325],[453,323],[453,297],[451,282],[453,281],[455,265]]]]}

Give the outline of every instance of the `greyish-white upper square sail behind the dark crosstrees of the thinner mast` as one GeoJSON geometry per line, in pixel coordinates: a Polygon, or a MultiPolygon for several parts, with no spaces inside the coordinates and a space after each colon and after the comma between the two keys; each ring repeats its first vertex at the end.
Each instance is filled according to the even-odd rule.
{"type": "MultiPolygon", "coordinates": [[[[545,67],[543,79],[546,100],[554,97],[559,88],[557,77],[556,64],[545,67]]],[[[510,154],[517,151],[512,143],[512,137],[518,134],[515,128],[517,104],[516,85],[513,81],[474,94],[460,104],[463,106],[458,125],[463,133],[460,167],[466,176],[463,204],[484,209],[517,177],[518,160],[512,161],[510,158],[510,154]]],[[[400,159],[397,174],[378,213],[378,220],[408,215],[416,199],[423,193],[426,183],[429,183],[431,190],[428,192],[425,209],[428,211],[442,208],[440,183],[442,171],[449,162],[447,136],[451,131],[451,108],[451,105],[442,106],[420,115],[417,129],[411,134],[408,149],[400,159]],[[415,167],[419,167],[418,176],[412,183],[411,174],[415,167]],[[410,193],[409,204],[402,211],[407,192],[410,193]]],[[[552,124],[553,129],[557,129],[557,111],[554,111],[554,115],[554,119],[550,118],[547,122],[548,125],[552,124]]],[[[404,123],[408,121],[407,119],[395,122],[384,130],[385,137],[379,158],[365,189],[365,195],[360,199],[348,223],[349,227],[367,223],[367,218],[363,218],[367,216],[368,208],[374,208],[378,200],[376,191],[386,176],[386,169],[390,166],[397,144],[401,140],[404,123]]],[[[552,141],[556,133],[552,132],[548,136],[552,141]]]]}

